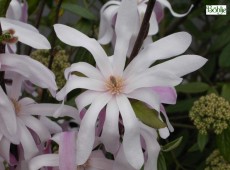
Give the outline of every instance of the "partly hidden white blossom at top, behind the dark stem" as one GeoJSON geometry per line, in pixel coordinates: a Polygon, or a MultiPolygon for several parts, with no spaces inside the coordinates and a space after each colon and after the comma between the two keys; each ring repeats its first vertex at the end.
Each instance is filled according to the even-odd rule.
{"type": "MultiPolygon", "coordinates": [[[[139,31],[140,24],[142,22],[144,13],[146,11],[147,2],[148,2],[148,0],[136,0],[137,13],[139,16],[136,34],[137,34],[137,31],[139,31]]],[[[98,41],[101,44],[108,44],[109,42],[112,41],[112,39],[115,35],[114,34],[115,33],[114,32],[114,26],[116,23],[116,15],[118,13],[120,6],[121,6],[121,1],[111,0],[111,1],[108,1],[106,4],[104,4],[103,7],[101,8],[100,27],[99,27],[99,35],[98,35],[98,41]]],[[[190,12],[193,5],[190,7],[188,12],[186,12],[185,14],[178,14],[178,13],[173,11],[170,3],[167,0],[157,0],[155,3],[155,6],[154,6],[154,11],[151,15],[150,22],[149,22],[150,23],[150,28],[149,28],[149,32],[148,32],[149,36],[155,35],[158,32],[158,30],[159,30],[158,23],[163,18],[163,15],[164,15],[163,8],[164,7],[168,8],[173,16],[183,17],[190,12]]],[[[135,41],[135,37],[133,39],[135,41]]],[[[149,38],[147,40],[148,40],[148,42],[152,41],[149,38]]],[[[134,42],[131,41],[130,43],[132,45],[132,43],[134,43],[134,42]]]]}

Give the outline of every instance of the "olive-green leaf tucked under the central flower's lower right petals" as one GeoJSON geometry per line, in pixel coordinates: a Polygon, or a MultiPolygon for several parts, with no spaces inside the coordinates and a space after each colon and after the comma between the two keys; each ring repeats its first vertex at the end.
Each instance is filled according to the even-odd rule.
{"type": "Polygon", "coordinates": [[[136,116],[144,124],[155,129],[166,127],[166,124],[158,118],[158,113],[155,110],[147,107],[144,103],[132,102],[132,107],[136,116]]]}

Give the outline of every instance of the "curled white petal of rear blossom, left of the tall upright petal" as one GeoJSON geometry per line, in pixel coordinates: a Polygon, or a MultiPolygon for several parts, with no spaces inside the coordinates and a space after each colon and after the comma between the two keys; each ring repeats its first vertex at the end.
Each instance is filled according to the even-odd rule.
{"type": "Polygon", "coordinates": [[[108,44],[112,41],[113,30],[113,18],[116,16],[120,2],[108,1],[100,10],[100,26],[98,34],[98,42],[100,44],[108,44]]]}

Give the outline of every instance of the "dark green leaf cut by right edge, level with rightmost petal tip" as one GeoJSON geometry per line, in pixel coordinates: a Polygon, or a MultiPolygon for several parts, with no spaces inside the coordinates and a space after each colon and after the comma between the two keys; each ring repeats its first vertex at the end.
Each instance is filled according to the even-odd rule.
{"type": "Polygon", "coordinates": [[[220,53],[219,66],[222,68],[230,68],[230,43],[224,47],[223,51],[220,53]]]}

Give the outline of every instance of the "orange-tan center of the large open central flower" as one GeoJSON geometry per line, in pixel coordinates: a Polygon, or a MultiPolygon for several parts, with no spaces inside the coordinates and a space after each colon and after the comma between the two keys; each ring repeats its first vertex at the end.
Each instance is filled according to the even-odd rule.
{"type": "Polygon", "coordinates": [[[106,88],[112,94],[120,94],[124,88],[124,81],[121,77],[110,76],[106,82],[106,88]]]}

